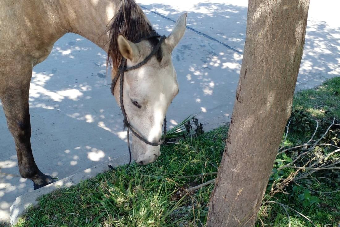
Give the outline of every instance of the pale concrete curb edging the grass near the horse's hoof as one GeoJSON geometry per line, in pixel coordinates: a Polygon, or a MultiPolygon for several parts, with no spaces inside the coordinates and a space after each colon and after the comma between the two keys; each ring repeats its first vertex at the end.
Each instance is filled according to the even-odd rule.
{"type": "Polygon", "coordinates": [[[127,164],[128,162],[129,162],[129,155],[122,155],[118,158],[114,158],[112,160],[98,164],[92,168],[75,173],[69,177],[65,177],[43,188],[39,188],[33,192],[29,192],[27,194],[18,196],[15,199],[13,205],[10,207],[11,225],[15,225],[18,222],[19,217],[27,213],[29,207],[31,206],[34,208],[39,207],[38,198],[40,196],[53,192],[57,189],[69,188],[73,185],[78,184],[81,180],[86,180],[88,178],[97,176],[97,174],[99,173],[108,171],[109,168],[107,167],[107,165],[112,165],[113,167],[117,167],[118,165],[127,164]]]}

